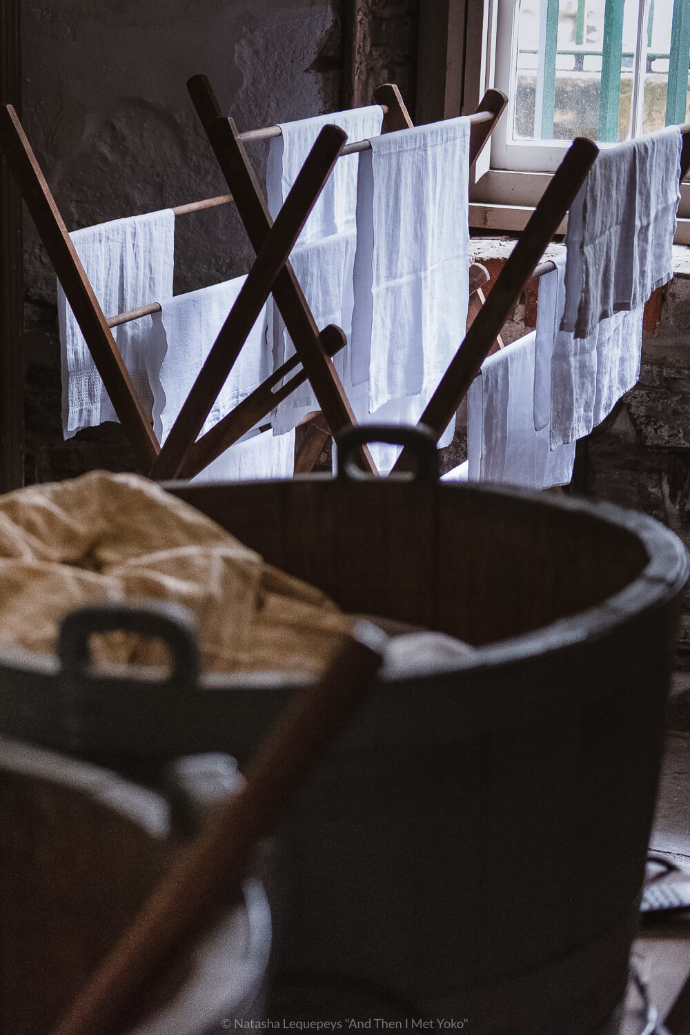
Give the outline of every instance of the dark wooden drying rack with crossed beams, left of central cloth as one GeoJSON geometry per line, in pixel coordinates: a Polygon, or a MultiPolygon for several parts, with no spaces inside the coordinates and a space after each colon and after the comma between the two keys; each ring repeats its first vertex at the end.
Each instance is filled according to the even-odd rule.
{"type": "MultiPolygon", "coordinates": [[[[244,142],[277,136],[279,127],[240,134],[233,120],[222,116],[205,77],[194,77],[188,88],[230,191],[178,206],[174,211],[184,214],[234,201],[257,252],[257,260],[162,447],[153,434],[148,414],[112,335],[112,327],[155,313],[159,306],[151,303],[110,320],[103,316],[19,119],[11,106],[0,109],[0,143],[12,174],[117,417],[129,438],[140,469],[156,479],[188,478],[199,473],[230,445],[260,425],[271,410],[307,378],[331,434],[356,422],[332,363],[332,356],[346,344],[344,335],[336,327],[319,330],[316,326],[288,257],[335,160],[341,153],[365,150],[370,144],[358,141],[346,146],[344,134],[334,126],[326,126],[273,224],[244,151],[244,142]],[[296,353],[198,439],[246,334],[271,292],[296,353]],[[291,380],[286,382],[289,375],[292,375],[291,380]]],[[[412,125],[397,87],[385,84],[376,91],[374,99],[385,111],[384,131],[412,125]]],[[[471,160],[485,145],[505,105],[503,94],[489,90],[479,111],[471,117],[471,160]]],[[[357,460],[365,471],[378,473],[366,445],[360,447],[357,460]]]]}

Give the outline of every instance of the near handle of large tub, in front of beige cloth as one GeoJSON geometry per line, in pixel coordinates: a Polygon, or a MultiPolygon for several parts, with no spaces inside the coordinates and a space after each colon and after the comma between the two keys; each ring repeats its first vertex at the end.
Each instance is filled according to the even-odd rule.
{"type": "Polygon", "coordinates": [[[120,629],[156,637],[166,644],[171,655],[171,673],[163,685],[197,684],[200,660],[193,616],[186,608],[168,600],[133,603],[107,600],[70,611],[58,631],[57,653],[63,673],[97,679],[91,667],[89,638],[94,632],[120,629]]]}

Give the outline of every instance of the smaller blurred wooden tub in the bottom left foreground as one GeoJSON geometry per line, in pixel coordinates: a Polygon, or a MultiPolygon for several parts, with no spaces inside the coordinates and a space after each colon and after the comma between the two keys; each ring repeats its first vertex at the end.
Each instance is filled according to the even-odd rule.
{"type": "MultiPolygon", "coordinates": [[[[160,794],[3,738],[0,823],[2,1032],[49,1032],[170,866],[180,830],[160,794]]],[[[258,1023],[269,947],[266,896],[247,880],[118,1031],[209,1035],[235,1017],[258,1023]]]]}

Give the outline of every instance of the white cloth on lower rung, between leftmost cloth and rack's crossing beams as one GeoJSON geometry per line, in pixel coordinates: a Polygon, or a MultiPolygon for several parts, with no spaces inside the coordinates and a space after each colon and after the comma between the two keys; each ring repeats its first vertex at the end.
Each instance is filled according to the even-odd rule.
{"type": "MultiPolygon", "coordinates": [[[[164,442],[197,375],[230,313],[246,277],[176,295],[160,303],[154,317],[154,345],[163,353],[160,392],[154,401],[154,430],[164,442]]],[[[246,338],[230,376],[202,428],[202,434],[245,398],[270,373],[266,344],[266,306],[246,338]]],[[[294,473],[295,435],[274,437],[252,430],[202,471],[196,480],[290,478],[294,473]]]]}

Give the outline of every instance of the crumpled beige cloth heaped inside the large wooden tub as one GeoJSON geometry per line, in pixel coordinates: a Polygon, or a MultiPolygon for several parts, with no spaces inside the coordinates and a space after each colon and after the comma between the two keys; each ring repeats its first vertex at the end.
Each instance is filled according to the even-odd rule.
{"type": "MultiPolygon", "coordinates": [[[[67,612],[143,598],[192,612],[206,671],[317,675],[352,626],[321,591],[138,475],[96,471],[0,497],[0,644],[54,653],[67,612]]],[[[131,633],[94,639],[118,663],[166,656],[131,633]]]]}

